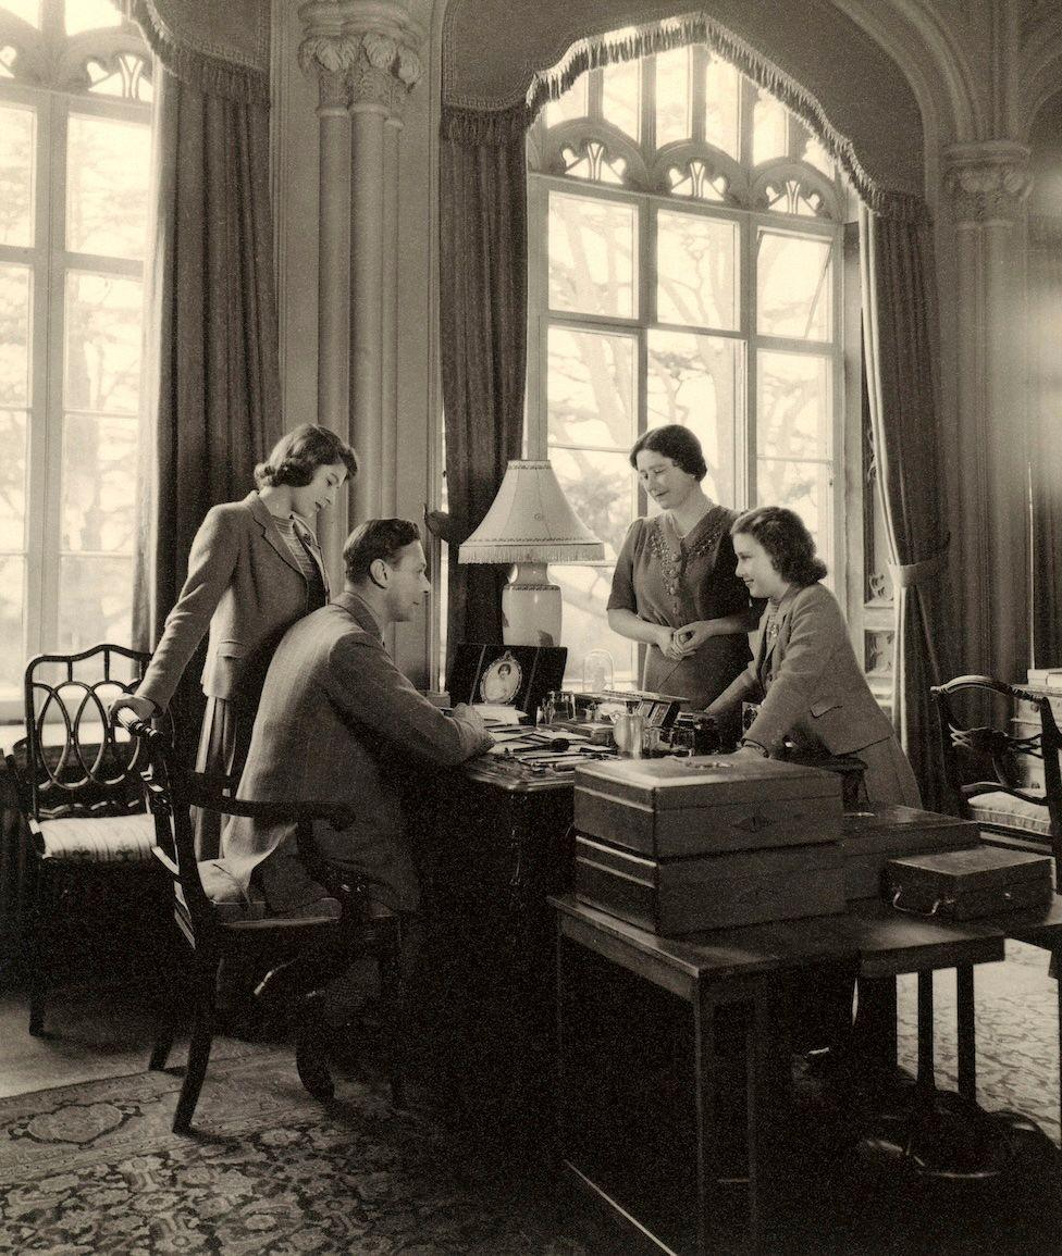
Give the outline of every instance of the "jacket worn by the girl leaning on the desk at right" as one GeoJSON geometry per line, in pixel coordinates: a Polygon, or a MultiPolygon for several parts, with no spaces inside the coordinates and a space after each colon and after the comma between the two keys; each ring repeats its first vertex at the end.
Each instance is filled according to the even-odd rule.
{"type": "Polygon", "coordinates": [[[713,702],[723,715],[743,701],[760,702],[745,736],[770,754],[786,736],[809,750],[847,755],[891,737],[848,641],[833,594],[822,584],[791,589],[777,609],[778,634],[767,641],[760,620],[755,658],[713,702]]]}

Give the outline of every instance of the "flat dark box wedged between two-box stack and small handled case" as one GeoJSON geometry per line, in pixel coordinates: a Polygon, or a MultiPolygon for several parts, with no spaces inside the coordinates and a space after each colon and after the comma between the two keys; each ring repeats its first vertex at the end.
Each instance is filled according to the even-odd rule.
{"type": "Polygon", "coordinates": [[[915,806],[882,806],[876,811],[853,811],[841,820],[845,850],[845,894],[877,898],[890,859],[925,855],[934,850],[961,850],[979,845],[973,820],[922,811],[915,806]]]}

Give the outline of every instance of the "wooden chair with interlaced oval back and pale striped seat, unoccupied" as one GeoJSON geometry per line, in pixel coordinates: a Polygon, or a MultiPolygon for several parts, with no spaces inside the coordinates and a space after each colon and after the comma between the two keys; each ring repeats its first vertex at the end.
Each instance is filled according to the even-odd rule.
{"type": "MultiPolygon", "coordinates": [[[[94,938],[138,924],[162,899],[140,769],[145,747],[111,726],[107,708],[128,693],[150,656],[99,644],[38,654],[25,669],[25,736],[6,756],[29,833],[35,893],[26,929],[29,1031],[44,1034],[45,999],[92,955],[94,938]],[[124,892],[124,893],[123,893],[124,892]],[[98,927],[90,927],[96,919],[98,927]]],[[[98,967],[108,967],[101,958],[98,967]]]]}

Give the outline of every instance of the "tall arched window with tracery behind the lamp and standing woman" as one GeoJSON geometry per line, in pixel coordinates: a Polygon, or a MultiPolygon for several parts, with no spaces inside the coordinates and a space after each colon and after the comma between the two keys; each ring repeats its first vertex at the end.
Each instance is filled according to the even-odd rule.
{"type": "Polygon", "coordinates": [[[535,119],[528,165],[528,446],[606,545],[550,568],[572,677],[605,647],[636,678],[605,605],[646,512],[627,451],[647,427],[698,435],[715,500],[797,510],[843,589],[850,201],[822,144],[692,45],[583,73],[535,119]]]}

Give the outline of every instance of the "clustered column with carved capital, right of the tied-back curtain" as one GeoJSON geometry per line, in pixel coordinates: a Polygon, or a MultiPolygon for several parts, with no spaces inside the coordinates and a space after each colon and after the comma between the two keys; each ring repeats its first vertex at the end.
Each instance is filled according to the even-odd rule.
{"type": "Polygon", "coordinates": [[[961,571],[959,663],[1003,679],[1029,652],[1026,200],[1029,149],[955,144],[944,186],[956,231],[956,398],[961,571]]]}

